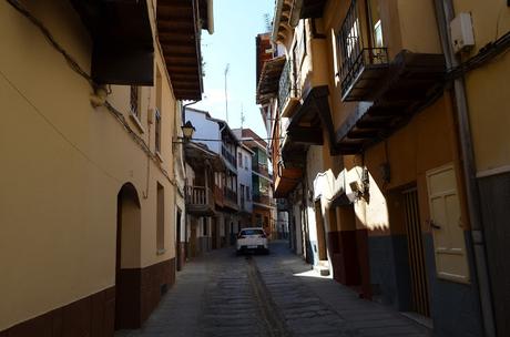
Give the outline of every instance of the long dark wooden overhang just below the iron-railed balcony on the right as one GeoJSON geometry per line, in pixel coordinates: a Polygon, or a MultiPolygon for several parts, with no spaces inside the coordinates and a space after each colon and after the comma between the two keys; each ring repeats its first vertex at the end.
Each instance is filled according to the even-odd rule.
{"type": "Polygon", "coordinates": [[[406,125],[418,111],[442,95],[442,54],[401,51],[377,88],[374,103],[359,104],[336,131],[336,149],[341,154],[363,152],[406,125]]]}

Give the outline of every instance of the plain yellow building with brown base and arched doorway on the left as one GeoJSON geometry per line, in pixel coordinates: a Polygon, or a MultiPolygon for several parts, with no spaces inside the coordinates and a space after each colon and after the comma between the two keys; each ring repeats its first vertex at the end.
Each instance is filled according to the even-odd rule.
{"type": "MultiPolygon", "coordinates": [[[[72,1],[20,3],[0,4],[9,45],[0,55],[0,331],[112,336],[140,326],[175,280],[184,184],[173,142],[186,94],[157,34],[165,8],[100,9],[119,10],[133,19],[125,27],[150,37],[151,67],[98,86],[88,76],[100,73],[98,58],[108,61],[98,57],[99,23],[72,1]]],[[[122,76],[146,68],[132,60],[109,69],[122,76]]]]}

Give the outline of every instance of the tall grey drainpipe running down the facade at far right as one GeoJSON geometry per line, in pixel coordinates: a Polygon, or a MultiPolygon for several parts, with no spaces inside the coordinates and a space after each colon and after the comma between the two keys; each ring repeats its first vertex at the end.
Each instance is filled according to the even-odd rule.
{"type": "MultiPolygon", "coordinates": [[[[448,29],[449,22],[455,18],[453,4],[451,0],[435,0],[438,29],[441,39],[442,50],[445,52],[447,69],[459,64],[459,61],[451,48],[451,35],[448,29]]],[[[463,175],[466,183],[466,196],[468,202],[468,212],[471,219],[471,239],[475,254],[475,269],[478,278],[480,293],[480,304],[482,312],[483,333],[486,337],[496,336],[493,319],[492,297],[489,279],[489,269],[487,265],[486,243],[483,238],[483,224],[481,221],[480,195],[477,182],[477,168],[475,162],[475,151],[472,144],[471,129],[469,123],[468,102],[463,78],[460,76],[453,81],[453,91],[456,99],[456,110],[460,136],[460,147],[463,159],[463,175]]]]}

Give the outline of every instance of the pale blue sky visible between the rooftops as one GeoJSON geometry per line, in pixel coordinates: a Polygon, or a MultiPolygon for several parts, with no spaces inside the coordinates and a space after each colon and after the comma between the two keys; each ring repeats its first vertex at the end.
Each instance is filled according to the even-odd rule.
{"type": "Polygon", "coordinates": [[[193,108],[208,111],[225,120],[225,65],[227,76],[228,125],[241,127],[241,109],[245,122],[262,137],[266,131],[255,103],[255,37],[266,31],[265,14],[273,19],[274,0],[215,0],[214,34],[202,31],[205,62],[203,100],[193,108]]]}

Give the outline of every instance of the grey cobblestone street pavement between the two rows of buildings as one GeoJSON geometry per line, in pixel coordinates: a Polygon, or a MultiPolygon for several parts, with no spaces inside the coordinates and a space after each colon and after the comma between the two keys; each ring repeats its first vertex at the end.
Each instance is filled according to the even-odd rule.
{"type": "Polygon", "coordinates": [[[184,266],[144,327],[115,337],[430,336],[428,329],[318,277],[284,242],[268,256],[214,251],[184,266]]]}

